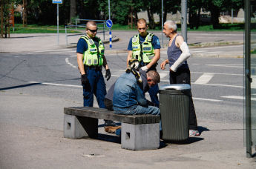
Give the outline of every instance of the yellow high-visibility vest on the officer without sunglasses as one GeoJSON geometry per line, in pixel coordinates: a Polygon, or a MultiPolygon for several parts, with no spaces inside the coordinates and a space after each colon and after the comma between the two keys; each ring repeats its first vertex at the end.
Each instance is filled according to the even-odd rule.
{"type": "Polygon", "coordinates": [[[153,36],[153,33],[148,33],[145,37],[145,42],[142,44],[140,44],[139,34],[132,38],[132,59],[138,59],[139,62],[143,60],[144,63],[152,61],[154,58],[154,47],[152,45],[153,36]]]}

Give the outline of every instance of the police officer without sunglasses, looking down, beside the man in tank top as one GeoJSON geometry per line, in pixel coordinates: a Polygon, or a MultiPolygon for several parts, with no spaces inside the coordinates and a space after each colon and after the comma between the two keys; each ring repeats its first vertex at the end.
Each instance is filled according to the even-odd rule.
{"type": "MultiPolygon", "coordinates": [[[[142,70],[157,70],[157,61],[160,59],[160,41],[153,33],[147,32],[148,24],[145,19],[137,21],[137,30],[139,34],[131,37],[128,44],[127,67],[130,59],[138,59],[142,70]]],[[[148,93],[151,102],[158,107],[158,85],[151,87],[148,93]]]]}

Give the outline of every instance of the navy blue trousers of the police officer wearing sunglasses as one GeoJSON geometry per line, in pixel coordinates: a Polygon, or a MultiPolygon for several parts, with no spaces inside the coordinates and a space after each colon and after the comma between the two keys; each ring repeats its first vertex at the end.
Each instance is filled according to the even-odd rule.
{"type": "Polygon", "coordinates": [[[83,85],[84,106],[93,107],[93,94],[96,96],[100,108],[105,108],[106,84],[101,70],[93,68],[85,70],[90,84],[83,85]]]}

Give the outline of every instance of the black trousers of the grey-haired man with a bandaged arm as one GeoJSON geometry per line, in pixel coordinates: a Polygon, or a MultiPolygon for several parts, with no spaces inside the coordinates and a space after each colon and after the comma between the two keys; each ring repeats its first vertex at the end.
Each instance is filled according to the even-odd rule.
{"type": "MultiPolygon", "coordinates": [[[[181,66],[177,72],[170,72],[170,84],[190,84],[190,70],[188,67],[181,66]]],[[[197,116],[194,111],[192,94],[189,96],[189,130],[197,130],[197,116]]]]}

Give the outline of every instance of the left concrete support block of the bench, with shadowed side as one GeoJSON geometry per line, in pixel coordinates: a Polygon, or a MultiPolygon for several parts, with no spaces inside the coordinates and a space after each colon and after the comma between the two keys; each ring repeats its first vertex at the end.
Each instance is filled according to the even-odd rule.
{"type": "Polygon", "coordinates": [[[64,137],[79,139],[89,136],[96,139],[98,135],[98,119],[64,114],[64,137]]]}

